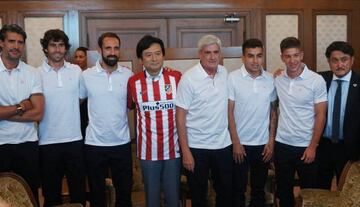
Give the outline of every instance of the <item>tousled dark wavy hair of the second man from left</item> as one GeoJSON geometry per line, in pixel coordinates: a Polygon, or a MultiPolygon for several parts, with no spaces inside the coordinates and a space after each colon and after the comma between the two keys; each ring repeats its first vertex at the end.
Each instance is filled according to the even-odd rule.
{"type": "Polygon", "coordinates": [[[40,39],[40,43],[43,48],[43,52],[45,54],[47,54],[45,50],[48,48],[50,41],[54,41],[54,42],[63,41],[65,44],[66,51],[69,51],[71,47],[69,43],[69,37],[65,34],[64,31],[59,29],[50,29],[46,31],[44,37],[40,39]]]}

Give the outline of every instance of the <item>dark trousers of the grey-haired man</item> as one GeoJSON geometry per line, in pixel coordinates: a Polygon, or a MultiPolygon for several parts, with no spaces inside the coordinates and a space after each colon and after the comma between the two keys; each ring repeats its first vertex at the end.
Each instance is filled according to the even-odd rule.
{"type": "Polygon", "coordinates": [[[191,148],[194,172],[186,171],[193,207],[208,206],[209,171],[216,192],[216,206],[231,206],[232,147],[207,150],[191,148]]]}

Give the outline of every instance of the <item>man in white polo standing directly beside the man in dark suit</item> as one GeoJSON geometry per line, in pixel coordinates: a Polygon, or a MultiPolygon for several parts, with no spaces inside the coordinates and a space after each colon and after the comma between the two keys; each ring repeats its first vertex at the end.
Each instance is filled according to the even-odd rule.
{"type": "Polygon", "coordinates": [[[316,186],[316,148],[326,120],[327,93],[324,79],[303,62],[300,41],[281,41],[285,73],[275,79],[280,115],[275,143],[275,170],[280,206],[294,206],[294,174],[301,188],[316,186]]]}

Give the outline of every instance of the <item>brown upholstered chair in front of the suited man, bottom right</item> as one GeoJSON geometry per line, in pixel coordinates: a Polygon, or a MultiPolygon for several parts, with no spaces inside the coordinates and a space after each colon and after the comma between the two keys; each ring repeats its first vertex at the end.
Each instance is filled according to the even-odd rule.
{"type": "Polygon", "coordinates": [[[360,206],[360,161],[345,165],[337,191],[302,189],[301,197],[303,207],[360,206]]]}

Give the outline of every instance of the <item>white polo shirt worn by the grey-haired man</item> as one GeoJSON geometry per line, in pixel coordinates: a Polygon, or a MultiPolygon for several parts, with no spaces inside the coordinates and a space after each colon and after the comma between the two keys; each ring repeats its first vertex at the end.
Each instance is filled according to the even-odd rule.
{"type": "Polygon", "coordinates": [[[231,144],[228,131],[227,70],[219,65],[211,78],[200,63],[181,78],[176,106],[187,110],[188,145],[198,149],[223,149],[231,144]]]}

